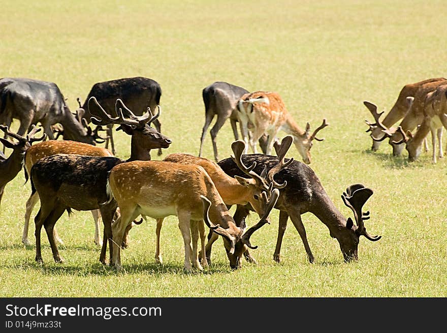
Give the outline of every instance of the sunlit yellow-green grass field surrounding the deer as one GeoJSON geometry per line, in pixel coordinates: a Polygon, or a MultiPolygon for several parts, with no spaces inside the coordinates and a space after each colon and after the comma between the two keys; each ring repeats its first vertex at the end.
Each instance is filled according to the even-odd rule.
{"type": "MultiPolygon", "coordinates": [[[[273,223],[251,238],[259,245],[251,251],[258,265],[244,261],[232,271],[219,239],[214,266],[185,274],[176,217],[166,219],[162,231],[163,265],[153,259],[155,221],[149,219],[132,229],[121,254],[126,271],[117,273],[99,263],[91,214],[76,211],[56,224],[66,262],[54,263],[42,231],[40,265],[33,224],[33,245],[20,243],[30,193],[20,172],[6,187],[0,210],[0,295],[447,296],[447,162],[433,165],[429,152],[408,163],[406,150],[392,157],[387,141],[371,152],[364,120],[372,118],[362,103],[388,111],[404,84],[447,75],[446,16],[445,3],[437,0],[4,2],[0,77],[55,82],[72,111],[95,82],[145,76],[161,84],[162,132],[173,143],[161,157],[153,152],[153,159],[198,154],[202,89],[214,81],[278,92],[302,127],[309,122],[314,129],[326,117],[330,126],[320,134],[325,141],[311,150],[310,167],[346,217],[352,213],[340,198],[345,188],[372,188],[365,226],[382,238],[373,243],[361,237],[359,261],[347,264],[326,226],[304,214],[315,262],[307,262],[289,221],[278,264],[274,210],[273,223]]],[[[115,133],[117,156],[129,157],[130,138],[115,133]]],[[[230,156],[233,140],[228,123],[217,137],[220,158],[230,156]]],[[[213,156],[209,135],[204,156],[213,156]]],[[[295,148],[288,156],[302,161],[295,148]]],[[[256,222],[254,214],[247,219],[248,225],[256,222]]]]}

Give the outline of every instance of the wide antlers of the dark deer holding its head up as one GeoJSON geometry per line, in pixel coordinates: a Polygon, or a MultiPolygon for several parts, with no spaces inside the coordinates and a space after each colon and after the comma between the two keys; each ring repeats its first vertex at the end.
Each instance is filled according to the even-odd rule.
{"type": "MultiPolygon", "coordinates": [[[[128,125],[128,126],[132,126],[132,127],[144,127],[146,125],[146,123],[149,123],[151,121],[151,119],[154,119],[149,108],[144,115],[137,117],[135,114],[132,113],[131,110],[129,110],[124,105],[124,103],[120,99],[117,99],[116,103],[115,103],[115,111],[118,116],[116,118],[112,118],[103,109],[103,107],[98,103],[97,99],[94,96],[90,97],[88,100],[88,110],[90,111],[90,113],[91,113],[90,102],[93,102],[94,104],[96,104],[96,106],[98,107],[98,109],[100,111],[100,114],[97,115],[99,118],[97,118],[95,116],[91,116],[91,122],[95,125],[116,124],[116,125],[128,125]],[[129,112],[129,116],[130,116],[129,118],[124,118],[124,115],[122,113],[122,108],[120,108],[118,106],[118,104],[121,104],[121,106],[127,112],[129,112]]],[[[156,116],[158,116],[158,115],[159,115],[159,112],[156,116]]]]}

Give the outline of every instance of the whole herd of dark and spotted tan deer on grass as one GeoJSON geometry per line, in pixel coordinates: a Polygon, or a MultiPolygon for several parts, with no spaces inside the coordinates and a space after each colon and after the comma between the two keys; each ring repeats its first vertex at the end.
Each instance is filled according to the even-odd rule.
{"type": "MultiPolygon", "coordinates": [[[[5,186],[23,165],[25,179],[30,178],[31,195],[26,202],[22,243],[29,245],[28,224],[34,206],[40,200],[35,217],[36,261],[42,262],[42,226],[56,262],[61,262],[56,243],[55,223],[65,211],[91,210],[95,222],[95,243],[101,248],[100,261],[121,269],[120,251],[128,246],[127,234],[146,217],[156,219],[155,260],[162,262],[160,234],[165,217],[178,217],[184,240],[184,267],[203,269],[211,263],[211,247],[218,236],[232,268],[241,265],[241,258],[256,262],[249,249],[250,236],[265,224],[273,208],[279,209],[279,228],[274,260],[279,262],[280,248],[288,219],[292,220],[307,253],[314,261],[301,215],[314,214],[338,240],[344,260],[358,258],[360,236],[371,241],[364,226],[369,211],[362,210],[372,190],[362,184],[346,188],[342,200],[352,209],[354,220],[345,218],[327,195],[320,180],[306,164],[311,163],[312,141],[328,126],[326,119],[310,133],[293,120],[280,96],[273,92],[249,93],[242,87],[227,82],[214,82],[203,89],[205,126],[203,127],[199,157],[175,153],[163,161],[151,161],[150,150],[168,148],[170,138],[161,134],[159,116],[161,88],[154,80],[136,77],[99,82],[93,85],[84,104],[72,113],[56,84],[23,78],[0,79],[0,138],[4,147],[13,149],[7,158],[0,154],[0,201],[5,186]],[[133,110],[133,111],[132,111],[133,110]],[[152,113],[157,110],[156,114],[152,113]],[[145,111],[145,112],[144,112],[145,111]],[[144,114],[143,114],[144,112],[144,114]],[[217,115],[211,129],[215,162],[201,157],[206,131],[217,115]],[[230,118],[235,141],[230,158],[219,161],[216,135],[230,118]],[[10,130],[13,119],[20,121],[17,133],[10,130]],[[35,135],[41,129],[40,138],[35,135]],[[92,130],[89,124],[96,125],[92,130]],[[237,123],[242,139],[239,140],[237,123]],[[154,124],[155,129],[150,125],[154,124]],[[112,127],[118,125],[131,136],[131,154],[127,160],[115,157],[112,127]],[[99,132],[107,127],[107,136],[99,132]],[[277,139],[283,130],[289,135],[277,139]],[[27,133],[27,134],[25,134],[27,133]],[[65,140],[57,140],[62,135],[65,140]],[[7,137],[17,142],[7,140],[7,137]],[[46,141],[46,138],[50,140],[46,141]],[[33,142],[42,141],[31,145],[33,142]],[[111,143],[111,150],[107,149],[111,143]],[[258,141],[264,154],[258,154],[258,141]],[[106,142],[106,147],[96,143],[106,142]],[[292,143],[305,163],[285,158],[292,143]],[[247,154],[250,147],[254,154],[247,154]],[[276,156],[270,155],[275,150],[276,156]],[[237,205],[234,216],[230,207],[237,205]],[[259,215],[259,222],[246,228],[245,218],[250,211],[259,215]],[[142,219],[137,221],[138,216],[142,219]],[[104,225],[103,238],[99,233],[99,219],[104,225]],[[206,228],[209,229],[206,239],[206,228]],[[198,251],[200,237],[201,248],[198,251]],[[192,247],[191,247],[192,246],[192,247]],[[191,267],[192,265],[192,267],[191,267]]],[[[442,157],[442,126],[447,128],[447,80],[430,79],[403,87],[395,105],[381,122],[383,113],[364,102],[375,123],[366,121],[373,139],[372,150],[390,137],[393,154],[399,155],[406,144],[409,159],[415,160],[430,130],[433,138],[433,162],[436,161],[436,134],[439,157],[442,157]],[[391,128],[399,119],[398,128],[391,128]],[[411,131],[417,128],[416,134],[411,131]]],[[[5,149],[4,149],[5,151],[5,149]]]]}

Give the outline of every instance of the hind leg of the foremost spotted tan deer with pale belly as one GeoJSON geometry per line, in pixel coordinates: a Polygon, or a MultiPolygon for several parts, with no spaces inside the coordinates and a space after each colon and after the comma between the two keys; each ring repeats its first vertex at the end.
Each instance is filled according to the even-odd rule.
{"type": "MultiPolygon", "coordinates": [[[[136,209],[136,207],[133,207],[133,209],[120,209],[121,215],[118,217],[115,222],[111,225],[111,231],[113,240],[110,239],[110,247],[113,249],[111,253],[111,265],[114,265],[115,268],[119,271],[122,270],[121,266],[121,243],[124,236],[124,231],[126,227],[132,223],[134,219],[140,215],[136,209]]],[[[103,211],[101,210],[101,215],[103,216],[103,221],[105,220],[105,216],[103,214],[103,211]]],[[[113,216],[113,215],[112,215],[113,216]]],[[[104,241],[104,243],[106,243],[104,241]]]]}

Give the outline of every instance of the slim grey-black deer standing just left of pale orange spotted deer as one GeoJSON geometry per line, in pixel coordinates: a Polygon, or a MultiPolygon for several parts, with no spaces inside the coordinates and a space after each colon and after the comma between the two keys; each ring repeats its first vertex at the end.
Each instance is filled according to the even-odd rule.
{"type": "Polygon", "coordinates": [[[248,94],[246,89],[221,81],[216,81],[203,88],[202,98],[203,103],[205,104],[205,125],[203,126],[202,136],[200,139],[199,157],[202,156],[202,148],[206,131],[215,115],[217,115],[217,120],[210,131],[215,161],[217,162],[219,160],[216,144],[217,132],[222,128],[223,124],[225,124],[228,118],[230,118],[234,139],[239,139],[236,126],[236,123],[238,122],[236,103],[244,94],[248,94]]]}

